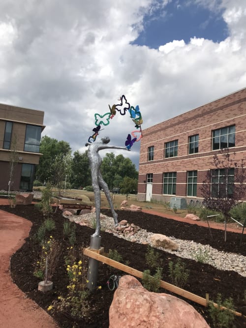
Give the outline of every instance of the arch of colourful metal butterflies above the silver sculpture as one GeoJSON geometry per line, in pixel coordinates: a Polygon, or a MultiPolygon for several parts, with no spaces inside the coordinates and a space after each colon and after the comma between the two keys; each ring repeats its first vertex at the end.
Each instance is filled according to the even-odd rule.
{"type": "Polygon", "coordinates": [[[96,140],[96,137],[99,134],[99,131],[104,130],[101,129],[101,126],[108,125],[110,123],[110,119],[113,119],[117,112],[119,112],[121,115],[126,115],[126,113],[130,114],[130,118],[135,123],[136,130],[131,131],[131,134],[128,134],[125,141],[125,146],[128,150],[131,149],[132,145],[139,141],[143,134],[142,134],[142,128],[141,124],[143,123],[142,115],[139,110],[139,106],[137,105],[135,108],[133,106],[130,106],[130,104],[127,102],[124,95],[122,95],[119,99],[121,101],[120,104],[114,104],[112,107],[109,105],[110,112],[103,114],[102,116],[100,114],[95,114],[95,125],[96,127],[92,129],[94,132],[92,136],[89,137],[88,142],[92,143],[96,140]]]}

